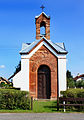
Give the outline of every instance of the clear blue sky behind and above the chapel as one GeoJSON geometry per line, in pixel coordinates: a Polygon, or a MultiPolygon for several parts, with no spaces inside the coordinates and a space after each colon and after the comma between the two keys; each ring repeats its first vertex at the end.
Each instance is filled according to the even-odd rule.
{"type": "Polygon", "coordinates": [[[67,69],[84,74],[84,0],[0,0],[0,76],[9,78],[20,61],[22,43],[35,41],[41,5],[51,17],[50,38],[64,42],[67,69]]]}

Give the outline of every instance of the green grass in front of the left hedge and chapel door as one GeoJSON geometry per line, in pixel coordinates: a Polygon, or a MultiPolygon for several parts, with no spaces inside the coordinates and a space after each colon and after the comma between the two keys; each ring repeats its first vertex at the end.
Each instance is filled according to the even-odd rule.
{"type": "Polygon", "coordinates": [[[33,101],[33,110],[0,110],[0,113],[42,113],[42,112],[57,112],[56,101],[33,101]]]}

